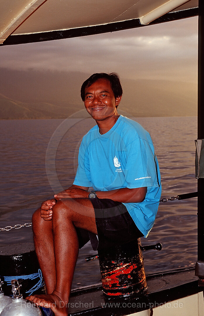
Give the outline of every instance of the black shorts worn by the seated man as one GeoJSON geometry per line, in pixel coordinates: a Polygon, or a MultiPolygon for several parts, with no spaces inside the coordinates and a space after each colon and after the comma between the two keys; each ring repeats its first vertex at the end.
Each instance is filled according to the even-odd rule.
{"type": "Polygon", "coordinates": [[[127,208],[121,202],[110,199],[89,198],[93,204],[97,235],[76,228],[79,248],[89,239],[93,250],[126,244],[132,240],[144,237],[135,225],[127,208]]]}

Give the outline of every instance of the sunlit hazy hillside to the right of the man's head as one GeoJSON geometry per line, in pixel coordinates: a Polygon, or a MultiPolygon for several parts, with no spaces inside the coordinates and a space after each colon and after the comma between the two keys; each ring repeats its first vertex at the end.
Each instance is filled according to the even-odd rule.
{"type": "Polygon", "coordinates": [[[121,109],[134,117],[197,115],[197,83],[143,79],[121,81],[124,91],[121,109]]]}

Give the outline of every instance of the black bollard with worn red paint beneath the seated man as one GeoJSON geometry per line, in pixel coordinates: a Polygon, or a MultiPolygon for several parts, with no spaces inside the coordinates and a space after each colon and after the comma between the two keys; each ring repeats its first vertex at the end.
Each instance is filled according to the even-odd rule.
{"type": "Polygon", "coordinates": [[[129,298],[147,290],[140,239],[98,250],[103,293],[129,298]]]}

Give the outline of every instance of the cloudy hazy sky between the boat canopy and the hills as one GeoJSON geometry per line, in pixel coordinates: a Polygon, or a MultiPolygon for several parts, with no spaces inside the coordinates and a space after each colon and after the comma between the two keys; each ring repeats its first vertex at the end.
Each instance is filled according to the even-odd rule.
{"type": "Polygon", "coordinates": [[[129,79],[195,81],[197,17],[130,30],[0,47],[0,67],[86,73],[115,71],[129,79]]]}

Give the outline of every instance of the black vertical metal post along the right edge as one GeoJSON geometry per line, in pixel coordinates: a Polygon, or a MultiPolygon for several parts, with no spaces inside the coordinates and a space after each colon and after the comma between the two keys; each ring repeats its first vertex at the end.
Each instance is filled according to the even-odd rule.
{"type": "MultiPolygon", "coordinates": [[[[198,139],[204,139],[204,1],[198,16],[198,139]]],[[[198,260],[204,262],[204,179],[198,179],[198,260]]]]}

